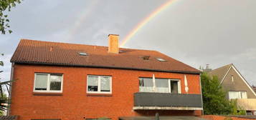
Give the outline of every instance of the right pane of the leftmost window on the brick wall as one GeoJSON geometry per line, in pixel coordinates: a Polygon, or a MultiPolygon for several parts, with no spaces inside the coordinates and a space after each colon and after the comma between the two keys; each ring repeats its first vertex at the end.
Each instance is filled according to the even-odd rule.
{"type": "Polygon", "coordinates": [[[49,89],[60,91],[62,86],[62,76],[60,75],[51,75],[49,79],[49,89]]]}

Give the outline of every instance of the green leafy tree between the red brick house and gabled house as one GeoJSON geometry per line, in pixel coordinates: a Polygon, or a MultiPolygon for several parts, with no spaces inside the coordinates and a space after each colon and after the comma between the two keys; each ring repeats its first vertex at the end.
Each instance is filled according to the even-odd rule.
{"type": "Polygon", "coordinates": [[[219,85],[217,76],[210,77],[207,73],[201,75],[204,114],[234,114],[236,103],[226,99],[226,92],[219,85]]]}

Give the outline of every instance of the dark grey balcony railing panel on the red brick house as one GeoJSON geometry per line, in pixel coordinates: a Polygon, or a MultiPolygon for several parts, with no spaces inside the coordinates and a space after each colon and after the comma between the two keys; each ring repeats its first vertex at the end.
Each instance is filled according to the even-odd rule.
{"type": "Polygon", "coordinates": [[[138,92],[133,109],[202,110],[202,99],[200,94],[138,92]]]}

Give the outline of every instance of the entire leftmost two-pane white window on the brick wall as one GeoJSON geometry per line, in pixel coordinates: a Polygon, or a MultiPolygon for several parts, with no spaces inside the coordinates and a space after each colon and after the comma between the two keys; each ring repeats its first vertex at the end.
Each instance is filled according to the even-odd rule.
{"type": "Polygon", "coordinates": [[[34,91],[62,92],[62,74],[35,74],[34,91]]]}

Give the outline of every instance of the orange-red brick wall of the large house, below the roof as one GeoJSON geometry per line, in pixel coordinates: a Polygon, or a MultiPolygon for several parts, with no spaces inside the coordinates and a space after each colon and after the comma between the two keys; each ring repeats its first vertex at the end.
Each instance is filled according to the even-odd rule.
{"type": "MultiPolygon", "coordinates": [[[[84,120],[99,117],[118,119],[119,116],[153,116],[156,111],[133,111],[133,94],[139,91],[138,77],[181,79],[184,74],[125,69],[98,69],[72,66],[14,65],[11,89],[11,115],[21,120],[62,119],[84,120]],[[33,94],[34,73],[63,74],[62,94],[33,94]],[[110,96],[86,93],[87,75],[112,76],[110,96]]],[[[199,74],[186,74],[189,94],[200,94],[199,74]]],[[[201,115],[201,111],[157,111],[160,115],[201,115]]]]}

